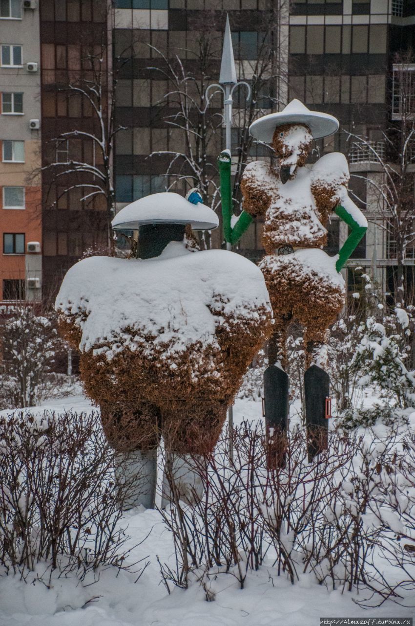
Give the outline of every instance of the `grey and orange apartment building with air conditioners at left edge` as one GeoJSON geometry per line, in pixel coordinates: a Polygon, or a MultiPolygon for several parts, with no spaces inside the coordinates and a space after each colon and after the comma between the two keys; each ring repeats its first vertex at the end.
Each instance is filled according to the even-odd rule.
{"type": "Polygon", "coordinates": [[[41,299],[39,8],[0,3],[0,302],[41,299]]]}

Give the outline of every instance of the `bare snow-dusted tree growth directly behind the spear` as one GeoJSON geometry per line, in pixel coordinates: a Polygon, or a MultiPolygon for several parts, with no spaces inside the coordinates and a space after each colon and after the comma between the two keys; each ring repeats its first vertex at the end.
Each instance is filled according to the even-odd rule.
{"type": "MultiPolygon", "coordinates": [[[[172,51],[164,54],[151,46],[163,64],[148,69],[169,81],[169,91],[159,103],[166,105],[164,122],[170,128],[179,129],[184,138],[181,146],[153,151],[151,156],[170,157],[166,187],[175,188],[183,183],[198,187],[204,202],[216,209],[220,201],[216,158],[224,147],[222,94],[219,90],[211,90],[207,100],[206,89],[219,78],[224,20],[219,22],[214,11],[204,11],[201,18],[194,19],[191,27],[195,33],[192,48],[184,46],[178,48],[176,54],[172,51]],[[191,61],[183,61],[183,57],[191,61]]],[[[273,6],[257,25],[257,46],[252,51],[254,60],[240,61],[239,64],[241,79],[251,85],[251,99],[246,102],[241,90],[240,101],[234,108],[234,128],[239,129],[233,184],[235,208],[241,202],[239,183],[253,141],[249,125],[257,116],[269,112],[270,105],[279,103],[276,85],[277,80],[281,81],[281,68],[277,67],[280,31],[280,8],[273,6]]],[[[242,48],[243,45],[238,44],[236,53],[240,51],[241,54],[237,56],[244,56],[242,48]]],[[[207,240],[206,246],[210,245],[207,240]]]]}

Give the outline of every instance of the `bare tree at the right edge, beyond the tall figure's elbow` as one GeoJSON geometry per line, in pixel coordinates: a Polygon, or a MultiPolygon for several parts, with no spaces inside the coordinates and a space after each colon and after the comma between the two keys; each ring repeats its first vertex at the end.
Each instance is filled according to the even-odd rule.
{"type": "Polygon", "coordinates": [[[382,141],[349,133],[352,149],[362,150],[380,165],[380,175],[364,178],[376,196],[381,223],[388,237],[389,256],[396,255],[396,300],[404,302],[404,265],[415,245],[415,64],[411,53],[397,57],[393,66],[392,121],[382,141]]]}

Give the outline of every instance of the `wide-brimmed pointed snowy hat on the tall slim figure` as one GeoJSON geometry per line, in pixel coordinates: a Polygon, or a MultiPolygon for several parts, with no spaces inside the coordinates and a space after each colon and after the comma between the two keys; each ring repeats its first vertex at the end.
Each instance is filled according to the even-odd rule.
{"type": "Polygon", "coordinates": [[[249,132],[259,141],[271,143],[277,126],[282,124],[306,124],[314,139],[321,139],[336,132],[339,128],[339,120],[328,113],[310,111],[299,100],[291,100],[289,105],[279,113],[269,113],[252,122],[249,132]]]}

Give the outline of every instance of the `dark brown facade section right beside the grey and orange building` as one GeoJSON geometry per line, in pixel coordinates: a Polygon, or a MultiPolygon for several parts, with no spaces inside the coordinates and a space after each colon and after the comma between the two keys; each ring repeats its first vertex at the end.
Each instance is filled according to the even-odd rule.
{"type": "Polygon", "coordinates": [[[107,241],[104,198],[88,197],[91,176],[74,164],[101,167],[93,140],[101,120],[86,85],[97,80],[91,58],[103,53],[106,100],[111,37],[106,0],[42,0],[40,7],[43,295],[52,299],[69,267],[107,241]]]}

